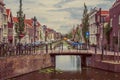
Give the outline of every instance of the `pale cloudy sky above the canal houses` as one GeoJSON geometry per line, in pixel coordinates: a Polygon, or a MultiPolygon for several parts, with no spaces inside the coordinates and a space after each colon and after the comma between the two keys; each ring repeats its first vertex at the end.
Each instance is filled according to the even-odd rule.
{"type": "MultiPolygon", "coordinates": [[[[34,16],[42,25],[66,33],[73,25],[80,24],[84,2],[88,9],[101,7],[109,10],[115,0],[23,0],[23,11],[27,18],[34,16]]],[[[19,10],[19,0],[4,0],[14,16],[19,10]]]]}

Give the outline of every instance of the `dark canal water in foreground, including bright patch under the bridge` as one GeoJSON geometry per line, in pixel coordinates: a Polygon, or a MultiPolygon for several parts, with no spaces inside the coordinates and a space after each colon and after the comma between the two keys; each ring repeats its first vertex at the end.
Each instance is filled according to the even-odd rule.
{"type": "Polygon", "coordinates": [[[82,67],[80,56],[56,56],[56,66],[51,70],[39,70],[11,80],[120,80],[120,73],[82,67]]]}

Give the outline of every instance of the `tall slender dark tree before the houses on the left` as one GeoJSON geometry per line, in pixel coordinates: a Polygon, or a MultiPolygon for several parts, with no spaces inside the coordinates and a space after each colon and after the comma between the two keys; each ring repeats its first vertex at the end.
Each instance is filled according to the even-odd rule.
{"type": "Polygon", "coordinates": [[[19,43],[20,43],[20,41],[21,41],[20,36],[25,34],[25,32],[24,32],[25,17],[24,17],[23,11],[22,11],[22,0],[20,0],[20,7],[19,7],[19,11],[17,12],[17,19],[18,19],[18,22],[15,24],[15,31],[17,33],[17,37],[19,38],[19,43]]]}

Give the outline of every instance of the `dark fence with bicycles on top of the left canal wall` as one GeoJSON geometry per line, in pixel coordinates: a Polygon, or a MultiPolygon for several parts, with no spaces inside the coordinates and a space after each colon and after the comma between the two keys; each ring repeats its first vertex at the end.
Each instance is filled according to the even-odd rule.
{"type": "Polygon", "coordinates": [[[0,57],[8,57],[8,56],[19,56],[19,55],[31,55],[35,54],[38,50],[44,50],[45,44],[41,45],[11,45],[8,43],[0,44],[0,57]]]}

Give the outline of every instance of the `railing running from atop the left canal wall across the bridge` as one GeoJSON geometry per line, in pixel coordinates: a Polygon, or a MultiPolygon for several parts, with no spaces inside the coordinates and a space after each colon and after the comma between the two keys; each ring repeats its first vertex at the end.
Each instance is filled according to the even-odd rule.
{"type": "Polygon", "coordinates": [[[62,53],[62,52],[82,52],[87,50],[79,50],[79,49],[63,49],[63,43],[58,43],[59,46],[57,49],[56,45],[53,43],[49,44],[41,44],[41,45],[11,45],[8,43],[0,44],[0,57],[9,57],[9,56],[20,56],[20,55],[33,55],[33,54],[43,54],[43,53],[62,53]]]}

